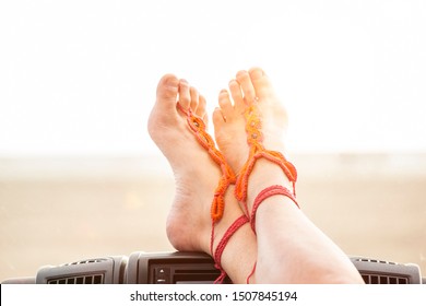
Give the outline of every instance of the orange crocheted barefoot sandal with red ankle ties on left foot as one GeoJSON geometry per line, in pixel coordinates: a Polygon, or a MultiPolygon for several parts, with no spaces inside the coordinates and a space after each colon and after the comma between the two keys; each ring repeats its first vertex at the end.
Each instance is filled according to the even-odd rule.
{"type": "Polygon", "coordinates": [[[213,242],[214,242],[214,227],[215,224],[222,219],[225,210],[225,193],[229,185],[235,184],[236,177],[233,169],[226,163],[224,155],[216,149],[212,137],[205,131],[204,121],[194,115],[191,109],[184,109],[184,107],[177,103],[178,109],[187,116],[187,122],[194,134],[198,142],[209,152],[209,155],[212,160],[221,167],[222,177],[217,184],[216,190],[214,192],[214,198],[211,207],[211,219],[212,219],[212,234],[210,239],[210,250],[215,261],[215,268],[221,271],[221,275],[216,279],[214,283],[223,283],[226,278],[226,272],[222,268],[221,258],[222,252],[225,249],[226,244],[234,235],[239,227],[248,223],[249,220],[245,214],[238,217],[225,232],[224,236],[220,240],[216,250],[213,251],[213,242]]]}

